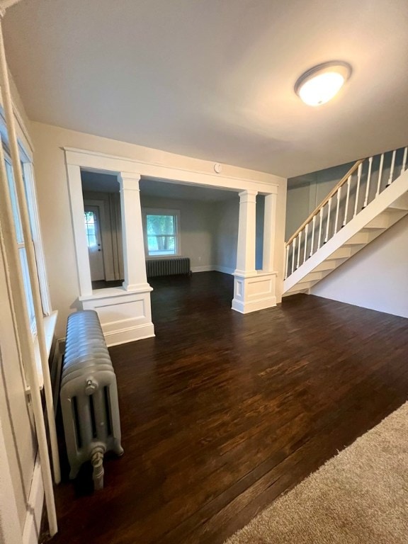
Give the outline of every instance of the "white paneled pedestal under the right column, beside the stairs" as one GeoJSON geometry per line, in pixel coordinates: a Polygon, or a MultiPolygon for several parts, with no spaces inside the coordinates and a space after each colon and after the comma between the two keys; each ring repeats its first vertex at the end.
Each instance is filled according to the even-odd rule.
{"type": "Polygon", "coordinates": [[[234,273],[232,310],[249,314],[276,306],[276,272],[257,271],[250,275],[234,273]]]}

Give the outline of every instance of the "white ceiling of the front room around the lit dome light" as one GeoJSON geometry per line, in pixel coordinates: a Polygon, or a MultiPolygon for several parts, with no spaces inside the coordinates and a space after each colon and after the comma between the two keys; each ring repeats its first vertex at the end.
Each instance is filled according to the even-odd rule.
{"type": "Polygon", "coordinates": [[[282,176],[408,142],[407,0],[23,0],[4,28],[42,123],[282,176]],[[336,59],[348,84],[305,106],[336,59]]]}

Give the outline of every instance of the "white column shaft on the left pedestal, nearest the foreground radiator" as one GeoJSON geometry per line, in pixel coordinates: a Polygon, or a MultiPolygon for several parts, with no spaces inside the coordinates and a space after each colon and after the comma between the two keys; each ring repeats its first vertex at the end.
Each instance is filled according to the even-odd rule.
{"type": "Polygon", "coordinates": [[[123,265],[125,272],[123,288],[127,291],[149,288],[146,278],[139,181],[140,176],[138,174],[120,173],[120,209],[122,210],[123,265]]]}

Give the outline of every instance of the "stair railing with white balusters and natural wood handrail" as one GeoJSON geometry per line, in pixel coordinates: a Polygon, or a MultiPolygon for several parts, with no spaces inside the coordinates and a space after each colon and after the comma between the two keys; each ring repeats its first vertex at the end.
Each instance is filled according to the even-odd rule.
{"type": "Polygon", "coordinates": [[[285,243],[285,279],[407,169],[407,154],[404,147],[351,166],[285,243]]]}

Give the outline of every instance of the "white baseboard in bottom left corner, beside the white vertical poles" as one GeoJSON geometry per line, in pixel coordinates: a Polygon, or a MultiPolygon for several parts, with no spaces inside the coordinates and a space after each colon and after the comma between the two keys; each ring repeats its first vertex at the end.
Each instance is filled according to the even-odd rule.
{"type": "Polygon", "coordinates": [[[43,504],[44,486],[42,485],[40,457],[37,455],[33,470],[33,480],[31,480],[30,496],[28,497],[26,521],[23,530],[23,544],[38,544],[43,504]]]}

